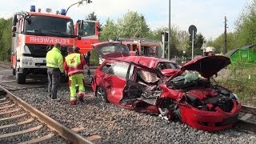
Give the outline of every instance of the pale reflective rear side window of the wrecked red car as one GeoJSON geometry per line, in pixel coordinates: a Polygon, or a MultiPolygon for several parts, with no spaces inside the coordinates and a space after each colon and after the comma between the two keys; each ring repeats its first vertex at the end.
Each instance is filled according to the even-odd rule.
{"type": "Polygon", "coordinates": [[[128,72],[129,64],[127,63],[114,63],[110,66],[108,74],[114,74],[119,78],[126,78],[128,72]]]}

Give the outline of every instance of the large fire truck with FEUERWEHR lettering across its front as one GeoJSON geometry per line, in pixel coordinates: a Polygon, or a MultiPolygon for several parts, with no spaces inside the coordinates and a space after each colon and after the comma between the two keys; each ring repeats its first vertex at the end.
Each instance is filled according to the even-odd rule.
{"type": "Polygon", "coordinates": [[[27,74],[46,74],[46,53],[54,43],[61,43],[65,56],[67,46],[78,46],[86,54],[98,42],[98,22],[78,20],[74,29],[64,9],[52,14],[31,6],[30,12],[14,14],[12,32],[11,62],[18,84],[26,82],[27,74]]]}

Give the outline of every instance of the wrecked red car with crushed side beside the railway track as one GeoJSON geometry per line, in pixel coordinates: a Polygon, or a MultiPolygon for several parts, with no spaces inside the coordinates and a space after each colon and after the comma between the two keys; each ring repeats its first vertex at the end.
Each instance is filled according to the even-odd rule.
{"type": "Polygon", "coordinates": [[[237,122],[242,107],[237,95],[210,82],[211,76],[230,64],[229,58],[196,58],[181,68],[167,69],[159,68],[162,62],[167,61],[108,58],[95,70],[92,89],[103,102],[168,120],[179,118],[198,130],[224,130],[237,122]]]}

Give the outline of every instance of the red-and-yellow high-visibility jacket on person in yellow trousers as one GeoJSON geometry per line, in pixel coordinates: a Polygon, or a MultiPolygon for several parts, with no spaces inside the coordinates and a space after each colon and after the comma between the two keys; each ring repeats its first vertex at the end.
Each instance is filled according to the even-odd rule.
{"type": "Polygon", "coordinates": [[[64,70],[69,77],[74,74],[83,74],[83,66],[86,66],[86,61],[82,54],[71,52],[66,56],[64,70]]]}

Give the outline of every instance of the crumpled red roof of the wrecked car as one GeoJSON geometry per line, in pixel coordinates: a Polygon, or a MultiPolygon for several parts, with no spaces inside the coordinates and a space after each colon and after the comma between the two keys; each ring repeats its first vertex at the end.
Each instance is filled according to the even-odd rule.
{"type": "MultiPolygon", "coordinates": [[[[127,57],[120,57],[120,58],[114,58],[114,59],[122,60],[126,62],[138,63],[143,66],[147,66],[149,68],[156,68],[159,62],[172,62],[163,58],[154,58],[154,57],[145,57],[145,56],[127,56],[127,57]]],[[[172,63],[175,63],[175,62],[172,62],[172,63]]]]}

